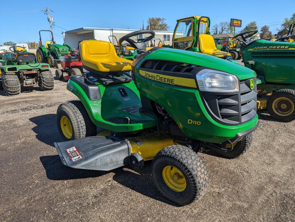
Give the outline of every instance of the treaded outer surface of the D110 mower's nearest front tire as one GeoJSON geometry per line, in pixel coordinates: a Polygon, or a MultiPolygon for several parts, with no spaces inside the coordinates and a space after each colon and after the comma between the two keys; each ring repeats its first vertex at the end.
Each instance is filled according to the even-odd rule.
{"type": "MultiPolygon", "coordinates": [[[[199,200],[204,195],[209,185],[209,172],[201,157],[199,157],[192,149],[181,145],[171,145],[165,147],[156,154],[152,162],[152,169],[155,167],[158,161],[167,159],[177,162],[181,169],[186,172],[188,178],[193,179],[193,182],[190,181],[192,192],[194,193],[193,198],[181,203],[173,200],[172,201],[179,205],[187,205],[199,200]]],[[[167,197],[165,193],[162,192],[156,182],[155,185],[160,193],[169,199],[169,197],[167,197]]]]}

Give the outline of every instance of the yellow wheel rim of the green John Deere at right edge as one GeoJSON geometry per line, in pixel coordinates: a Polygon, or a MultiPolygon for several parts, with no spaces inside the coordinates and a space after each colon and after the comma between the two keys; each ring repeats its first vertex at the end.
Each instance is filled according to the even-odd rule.
{"type": "Polygon", "coordinates": [[[279,97],[273,101],[273,111],[279,116],[289,116],[294,111],[294,102],[286,97],[279,97]]]}

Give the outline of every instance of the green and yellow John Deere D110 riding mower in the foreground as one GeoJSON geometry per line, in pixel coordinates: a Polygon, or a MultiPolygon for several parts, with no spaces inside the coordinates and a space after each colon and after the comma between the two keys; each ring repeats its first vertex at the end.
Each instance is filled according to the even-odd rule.
{"type": "MultiPolygon", "coordinates": [[[[57,125],[65,142],[55,143],[64,165],[135,170],[152,160],[152,177],[167,199],[190,204],[204,195],[209,173],[197,152],[215,149],[234,158],[251,145],[258,126],[256,74],[217,57],[164,47],[120,58],[112,43],[83,41],[88,78],[71,76],[67,89],[79,100],[61,104],[57,125]],[[96,135],[96,126],[106,129],[96,135]]],[[[138,32],[133,33],[137,35],[138,32]]]]}

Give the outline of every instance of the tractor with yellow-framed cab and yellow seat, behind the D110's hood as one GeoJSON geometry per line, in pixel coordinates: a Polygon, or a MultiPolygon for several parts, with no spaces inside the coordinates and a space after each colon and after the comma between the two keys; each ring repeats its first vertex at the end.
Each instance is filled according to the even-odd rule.
{"type": "MultiPolygon", "coordinates": [[[[223,59],[230,59],[228,52],[216,48],[214,39],[210,35],[210,19],[205,16],[192,16],[178,19],[173,33],[173,49],[183,49],[201,52],[223,59]]],[[[163,46],[170,47],[170,46],[163,46]]]]}

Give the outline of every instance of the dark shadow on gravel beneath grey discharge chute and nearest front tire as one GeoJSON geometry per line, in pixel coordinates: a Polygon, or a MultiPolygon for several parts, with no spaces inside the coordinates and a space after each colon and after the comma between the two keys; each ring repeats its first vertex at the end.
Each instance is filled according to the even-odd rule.
{"type": "Polygon", "coordinates": [[[63,165],[58,155],[42,156],[40,157],[40,161],[49,180],[75,180],[89,177],[100,177],[109,172],[113,172],[115,173],[113,180],[123,186],[163,203],[180,207],[165,199],[156,188],[150,171],[151,161],[145,162],[145,166],[137,172],[133,170],[124,170],[124,168],[131,169],[129,165],[112,171],[74,169],[63,165]]]}

